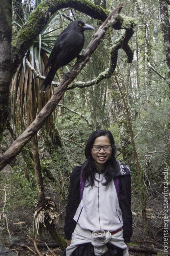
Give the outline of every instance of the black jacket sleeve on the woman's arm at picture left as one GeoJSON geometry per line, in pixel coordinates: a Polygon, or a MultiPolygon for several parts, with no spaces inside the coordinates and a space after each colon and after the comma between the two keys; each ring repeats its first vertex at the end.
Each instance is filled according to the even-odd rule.
{"type": "Polygon", "coordinates": [[[80,174],[81,166],[77,166],[70,175],[70,189],[64,224],[65,238],[67,240],[71,239],[71,234],[74,232],[76,227],[76,221],[73,219],[73,217],[80,204],[80,174]]]}

